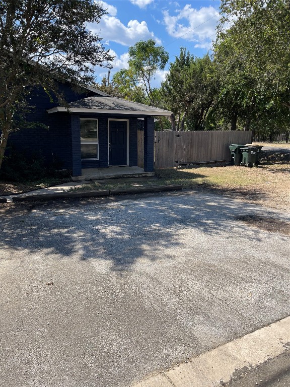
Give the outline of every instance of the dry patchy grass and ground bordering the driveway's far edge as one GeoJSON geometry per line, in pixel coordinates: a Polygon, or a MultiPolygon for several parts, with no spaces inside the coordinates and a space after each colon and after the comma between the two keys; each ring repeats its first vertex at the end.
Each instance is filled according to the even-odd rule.
{"type": "MultiPolygon", "coordinates": [[[[157,179],[146,181],[118,181],[118,179],[110,182],[95,181],[92,184],[84,185],[82,188],[77,189],[113,189],[138,185],[182,184],[185,189],[220,193],[231,198],[254,202],[288,212],[290,204],[289,155],[263,151],[261,164],[253,168],[207,165],[192,168],[157,169],[157,179]]],[[[61,182],[64,181],[34,182],[31,189],[61,182]]],[[[6,191],[14,190],[15,193],[28,191],[29,184],[31,183],[27,184],[21,186],[9,183],[5,186],[5,184],[0,183],[0,195],[3,189],[6,189],[6,191]]]]}

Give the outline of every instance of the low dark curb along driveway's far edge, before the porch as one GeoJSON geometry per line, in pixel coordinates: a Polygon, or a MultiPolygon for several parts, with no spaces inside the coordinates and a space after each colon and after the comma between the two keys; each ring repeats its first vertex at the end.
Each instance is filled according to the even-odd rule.
{"type": "MultiPolygon", "coordinates": [[[[13,197],[13,202],[35,202],[69,198],[96,198],[111,195],[129,195],[131,193],[174,191],[182,189],[182,185],[154,185],[150,187],[134,187],[111,190],[86,190],[77,192],[44,193],[43,195],[21,195],[13,197]]],[[[4,198],[6,200],[6,198],[4,198]]]]}

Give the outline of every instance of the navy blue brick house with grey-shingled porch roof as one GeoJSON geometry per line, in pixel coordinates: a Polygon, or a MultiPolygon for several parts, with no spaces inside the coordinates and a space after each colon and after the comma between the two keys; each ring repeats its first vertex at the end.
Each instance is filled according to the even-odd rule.
{"type": "Polygon", "coordinates": [[[93,87],[76,93],[69,82],[60,85],[68,106],[58,106],[41,88],[29,98],[28,121],[47,125],[11,134],[16,149],[41,152],[47,164],[81,176],[88,168],[137,166],[138,118],[144,119],[144,171],[154,169],[154,117],[170,111],[112,97],[93,87]]]}

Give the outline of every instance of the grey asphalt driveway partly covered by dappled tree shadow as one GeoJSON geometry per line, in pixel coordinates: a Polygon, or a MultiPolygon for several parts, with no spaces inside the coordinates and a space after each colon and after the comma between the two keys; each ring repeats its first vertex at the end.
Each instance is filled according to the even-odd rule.
{"type": "Polygon", "coordinates": [[[289,315],[289,220],[190,192],[9,212],[0,385],[123,387],[289,315]]]}

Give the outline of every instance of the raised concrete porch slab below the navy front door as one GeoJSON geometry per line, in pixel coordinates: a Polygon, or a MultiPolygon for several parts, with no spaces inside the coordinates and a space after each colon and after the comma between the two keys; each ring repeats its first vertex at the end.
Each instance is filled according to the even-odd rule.
{"type": "Polygon", "coordinates": [[[154,172],[144,172],[140,167],[108,167],[108,168],[85,168],[82,169],[82,176],[73,176],[73,181],[88,181],[101,179],[118,179],[126,177],[150,177],[154,172]]]}

